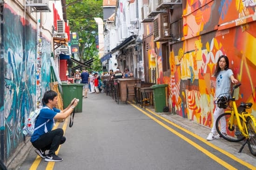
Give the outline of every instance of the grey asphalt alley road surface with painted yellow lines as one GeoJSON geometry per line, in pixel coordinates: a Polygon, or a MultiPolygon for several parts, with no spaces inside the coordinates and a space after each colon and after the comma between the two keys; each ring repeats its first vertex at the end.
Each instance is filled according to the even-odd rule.
{"type": "Polygon", "coordinates": [[[57,124],[67,138],[58,151],[63,161],[45,162],[33,148],[19,170],[256,169],[148,109],[118,105],[104,93],[88,94],[82,102],[73,127],[69,119],[57,124]]]}

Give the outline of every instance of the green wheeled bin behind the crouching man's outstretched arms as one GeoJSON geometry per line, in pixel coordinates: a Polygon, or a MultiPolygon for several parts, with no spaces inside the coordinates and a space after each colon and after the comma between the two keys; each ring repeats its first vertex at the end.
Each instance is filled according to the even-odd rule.
{"type": "Polygon", "coordinates": [[[63,99],[63,109],[66,108],[72,99],[77,98],[79,102],[74,109],[75,113],[82,112],[82,99],[83,99],[83,85],[84,84],[64,84],[62,83],[62,99],[63,99]]]}

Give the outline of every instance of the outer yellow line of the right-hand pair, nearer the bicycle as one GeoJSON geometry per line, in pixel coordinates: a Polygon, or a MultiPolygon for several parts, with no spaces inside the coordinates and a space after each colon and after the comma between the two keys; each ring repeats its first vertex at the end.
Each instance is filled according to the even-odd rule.
{"type": "Polygon", "coordinates": [[[251,164],[249,164],[249,163],[247,163],[247,162],[245,162],[245,161],[243,161],[243,160],[237,158],[237,157],[234,156],[233,154],[230,154],[229,152],[227,152],[227,151],[225,151],[225,150],[223,150],[223,149],[217,147],[216,145],[213,145],[212,143],[210,143],[210,142],[207,141],[206,139],[204,139],[204,138],[202,138],[202,137],[196,135],[195,133],[192,133],[192,132],[190,132],[189,130],[187,130],[187,129],[181,127],[181,126],[176,125],[175,123],[171,122],[170,120],[168,120],[168,119],[166,119],[166,118],[164,118],[164,117],[162,117],[162,116],[156,114],[155,112],[152,112],[152,111],[149,110],[148,108],[146,108],[146,110],[147,110],[148,112],[154,114],[155,116],[159,117],[160,119],[162,119],[162,120],[168,122],[168,123],[171,124],[172,126],[175,126],[175,127],[179,128],[179,129],[181,129],[182,131],[184,131],[184,132],[190,134],[191,136],[195,137],[196,139],[201,140],[201,141],[202,141],[203,143],[205,143],[206,145],[209,145],[210,147],[212,147],[212,148],[216,149],[217,151],[223,153],[224,155],[230,157],[231,159],[235,160],[236,162],[238,162],[238,163],[240,163],[240,164],[243,164],[244,166],[248,167],[249,169],[251,169],[251,170],[255,170],[255,169],[256,169],[255,166],[253,166],[253,165],[251,165],[251,164]]]}

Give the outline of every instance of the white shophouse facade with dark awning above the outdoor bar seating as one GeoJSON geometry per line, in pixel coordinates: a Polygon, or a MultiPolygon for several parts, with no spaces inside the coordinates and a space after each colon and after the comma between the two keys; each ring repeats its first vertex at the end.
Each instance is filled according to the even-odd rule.
{"type": "Polygon", "coordinates": [[[134,75],[140,74],[144,78],[139,12],[141,4],[137,0],[115,1],[115,12],[105,21],[106,51],[101,62],[108,63],[108,70],[115,71],[116,67],[119,67],[123,71],[128,68],[134,75]],[[106,58],[110,58],[109,61],[106,61],[106,58]]]}

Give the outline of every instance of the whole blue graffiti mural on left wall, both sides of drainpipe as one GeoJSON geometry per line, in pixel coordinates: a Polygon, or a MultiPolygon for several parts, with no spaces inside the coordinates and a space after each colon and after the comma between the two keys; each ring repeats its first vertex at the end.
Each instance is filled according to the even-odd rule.
{"type": "Polygon", "coordinates": [[[25,140],[21,129],[28,114],[38,104],[36,94],[49,90],[51,78],[51,41],[37,42],[36,24],[31,25],[5,4],[3,12],[1,58],[4,84],[0,106],[0,156],[7,161],[25,140]],[[40,52],[37,47],[40,45],[40,52]],[[39,64],[40,63],[40,64],[39,64]],[[40,75],[39,75],[40,74],[40,75]],[[40,76],[40,86],[37,78],[40,76]],[[40,87],[40,88],[38,88],[40,87]]]}

